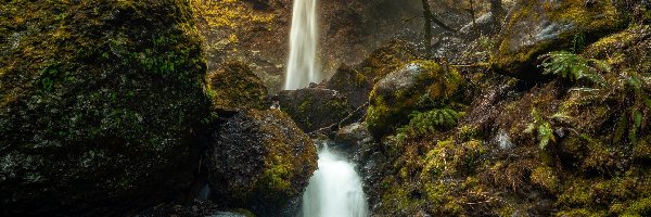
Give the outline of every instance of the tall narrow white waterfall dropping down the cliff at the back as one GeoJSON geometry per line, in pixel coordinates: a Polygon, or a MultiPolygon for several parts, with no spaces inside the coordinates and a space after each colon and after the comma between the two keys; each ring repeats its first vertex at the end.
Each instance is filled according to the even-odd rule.
{"type": "Polygon", "coordinates": [[[305,88],[319,81],[317,28],[317,0],[294,0],[285,90],[305,88]]]}

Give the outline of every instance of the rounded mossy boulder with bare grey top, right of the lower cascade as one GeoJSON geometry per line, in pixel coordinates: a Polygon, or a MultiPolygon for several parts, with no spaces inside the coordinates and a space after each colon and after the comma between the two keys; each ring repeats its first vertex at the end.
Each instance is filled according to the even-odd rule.
{"type": "Polygon", "coordinates": [[[433,61],[414,61],[382,78],[370,95],[365,123],[375,138],[409,123],[419,108],[439,107],[460,97],[461,74],[433,61]]]}

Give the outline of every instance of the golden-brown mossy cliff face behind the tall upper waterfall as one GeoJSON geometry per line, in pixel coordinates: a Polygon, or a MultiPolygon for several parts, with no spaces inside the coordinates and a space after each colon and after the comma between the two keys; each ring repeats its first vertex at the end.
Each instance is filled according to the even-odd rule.
{"type": "MultiPolygon", "coordinates": [[[[252,64],[270,92],[284,81],[289,55],[292,0],[193,0],[195,20],[206,39],[210,68],[228,61],[252,64]]],[[[320,1],[319,53],[323,78],[342,64],[363,60],[382,41],[394,37],[417,39],[422,28],[418,0],[320,1]],[[411,31],[410,28],[418,30],[411,31]]]]}

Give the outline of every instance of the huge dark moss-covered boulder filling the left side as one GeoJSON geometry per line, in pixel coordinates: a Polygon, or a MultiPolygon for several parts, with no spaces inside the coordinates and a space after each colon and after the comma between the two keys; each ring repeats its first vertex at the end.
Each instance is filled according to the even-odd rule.
{"type": "Polygon", "coordinates": [[[128,215],[189,186],[209,102],[188,2],[0,11],[0,215],[128,215]]]}

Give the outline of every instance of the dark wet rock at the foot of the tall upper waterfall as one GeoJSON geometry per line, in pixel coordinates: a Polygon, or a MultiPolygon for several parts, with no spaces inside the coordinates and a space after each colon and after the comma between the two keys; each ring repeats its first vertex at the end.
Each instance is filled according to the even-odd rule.
{"type": "Polygon", "coordinates": [[[353,112],[345,95],[329,89],[283,90],[276,100],[280,102],[280,108],[306,132],[336,124],[353,112]]]}

